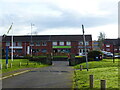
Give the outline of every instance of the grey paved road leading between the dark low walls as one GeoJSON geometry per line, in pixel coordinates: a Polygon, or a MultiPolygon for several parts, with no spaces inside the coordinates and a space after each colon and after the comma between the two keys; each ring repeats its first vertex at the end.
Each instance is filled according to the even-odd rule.
{"type": "Polygon", "coordinates": [[[39,68],[4,79],[3,88],[72,88],[74,69],[68,61],[53,61],[49,67],[39,68]]]}

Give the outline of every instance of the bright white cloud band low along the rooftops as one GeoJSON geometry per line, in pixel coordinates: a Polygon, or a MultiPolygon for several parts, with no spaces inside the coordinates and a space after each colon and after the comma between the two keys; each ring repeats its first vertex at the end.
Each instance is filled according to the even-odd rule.
{"type": "MultiPolygon", "coordinates": [[[[106,34],[106,38],[118,38],[118,26],[116,24],[85,28],[85,34],[91,34],[93,40],[97,40],[100,32],[104,32],[106,34]]],[[[39,34],[40,35],[82,34],[82,29],[81,27],[80,28],[54,28],[54,29],[44,30],[39,34]]]]}

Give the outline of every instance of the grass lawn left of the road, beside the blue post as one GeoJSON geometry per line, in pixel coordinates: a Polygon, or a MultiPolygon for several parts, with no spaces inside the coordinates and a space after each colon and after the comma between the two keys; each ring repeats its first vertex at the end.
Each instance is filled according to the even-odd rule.
{"type": "Polygon", "coordinates": [[[28,59],[14,59],[14,61],[11,61],[11,59],[8,60],[8,69],[6,69],[6,60],[2,59],[2,73],[15,71],[22,68],[38,68],[38,67],[45,67],[48,65],[41,64],[39,62],[29,61],[28,59]],[[21,66],[19,66],[19,63],[21,62],[21,66]],[[12,63],[12,68],[10,67],[10,64],[12,63]],[[28,63],[28,65],[27,65],[28,63]]]}

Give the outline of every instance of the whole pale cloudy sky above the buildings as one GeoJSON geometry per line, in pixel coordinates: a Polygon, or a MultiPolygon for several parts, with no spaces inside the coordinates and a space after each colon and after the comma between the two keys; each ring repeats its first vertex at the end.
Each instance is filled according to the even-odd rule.
{"type": "Polygon", "coordinates": [[[119,0],[0,0],[0,35],[91,34],[118,38],[119,0]],[[32,30],[31,30],[32,25],[32,30]]]}

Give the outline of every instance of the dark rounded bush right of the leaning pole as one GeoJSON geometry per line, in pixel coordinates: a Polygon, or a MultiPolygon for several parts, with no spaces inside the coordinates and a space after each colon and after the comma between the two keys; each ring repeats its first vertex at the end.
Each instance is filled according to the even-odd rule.
{"type": "Polygon", "coordinates": [[[89,61],[102,60],[102,54],[103,53],[101,51],[95,51],[95,50],[90,51],[90,52],[88,52],[88,59],[89,59],[89,61]]]}

